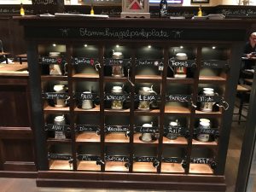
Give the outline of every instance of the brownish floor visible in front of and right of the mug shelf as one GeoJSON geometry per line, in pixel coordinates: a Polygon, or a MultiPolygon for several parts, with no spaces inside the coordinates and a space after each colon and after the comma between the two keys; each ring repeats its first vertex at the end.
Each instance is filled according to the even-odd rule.
{"type": "MultiPolygon", "coordinates": [[[[237,108],[235,109],[237,110],[237,108]]],[[[233,119],[237,119],[236,116],[233,119]]],[[[238,125],[233,122],[230,135],[229,151],[226,161],[226,192],[235,192],[236,174],[239,165],[239,157],[241,153],[241,143],[245,123],[238,125]]],[[[35,179],[27,178],[0,178],[0,192],[135,192],[135,191],[148,191],[153,192],[156,190],[125,190],[125,189],[70,189],[70,188],[38,188],[35,179]]],[[[179,192],[177,190],[170,190],[172,192],[179,192]]],[[[253,191],[252,191],[253,192],[253,191]]]]}

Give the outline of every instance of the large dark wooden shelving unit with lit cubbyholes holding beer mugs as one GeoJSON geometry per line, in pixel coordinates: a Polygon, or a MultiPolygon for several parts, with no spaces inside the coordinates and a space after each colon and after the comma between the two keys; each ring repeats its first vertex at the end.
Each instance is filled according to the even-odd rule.
{"type": "MultiPolygon", "coordinates": [[[[20,23],[27,31],[32,103],[42,106],[42,111],[38,111],[38,105],[32,106],[33,118],[37,119],[38,186],[79,183],[80,187],[120,189],[182,186],[189,191],[225,190],[224,162],[229,141],[223,136],[230,133],[232,112],[216,106],[212,112],[203,112],[200,105],[201,100],[220,105],[227,102],[232,109],[239,47],[247,23],[36,17],[21,18],[20,23]],[[230,31],[236,31],[236,37],[230,38],[230,31]],[[151,33],[146,38],[143,32],[151,33]],[[48,57],[53,41],[54,50],[66,60],[67,76],[51,76],[39,70],[38,58],[48,57]],[[212,49],[213,45],[216,49],[212,49]],[[38,46],[41,49],[37,50],[38,46]],[[121,52],[123,58],[114,59],[113,50],[121,52]],[[173,61],[180,52],[188,58],[173,61]],[[74,64],[76,57],[79,62],[74,64]],[[88,64],[88,58],[95,58],[98,66],[88,64]],[[127,60],[129,65],[125,64],[127,60]],[[225,61],[229,70],[222,65],[225,61]],[[159,63],[162,67],[157,66],[159,63]],[[179,79],[174,69],[183,66],[187,68],[187,77],[179,79]],[[123,73],[113,77],[111,69],[121,69],[123,73]],[[67,86],[67,107],[50,106],[42,93],[50,92],[54,84],[63,81],[67,86]],[[121,91],[114,90],[114,86],[121,87],[121,91]],[[143,92],[143,87],[150,94],[143,92]],[[203,97],[205,87],[214,88],[218,95],[203,97]],[[81,108],[83,103],[90,107],[92,102],[93,108],[81,108]],[[121,109],[113,109],[119,108],[120,103],[121,109]],[[149,109],[142,110],[145,105],[149,109]],[[68,142],[48,138],[47,130],[42,128],[52,124],[56,115],[64,115],[66,124],[49,128],[68,130],[68,142]],[[207,131],[199,126],[202,118],[213,122],[207,131]],[[178,122],[177,127],[170,126],[172,121],[178,122]],[[176,134],[177,138],[169,139],[168,134],[176,134]],[[197,134],[205,134],[210,140],[198,141],[197,134]],[[152,140],[143,142],[143,136],[152,140]],[[68,147],[63,147],[65,144],[68,147]],[[54,160],[45,155],[50,150],[56,154],[54,160]],[[70,156],[65,155],[67,151],[70,156]],[[79,155],[83,155],[82,159],[79,155]],[[56,178],[58,182],[54,183],[56,178]]],[[[60,95],[50,96],[60,99],[60,95]]]]}

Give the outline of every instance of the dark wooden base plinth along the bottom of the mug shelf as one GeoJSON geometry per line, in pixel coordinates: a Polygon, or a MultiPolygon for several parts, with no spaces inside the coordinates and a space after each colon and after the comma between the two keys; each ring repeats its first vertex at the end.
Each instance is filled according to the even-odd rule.
{"type": "Polygon", "coordinates": [[[38,187],[222,191],[224,176],[117,172],[38,172],[38,187]]]}

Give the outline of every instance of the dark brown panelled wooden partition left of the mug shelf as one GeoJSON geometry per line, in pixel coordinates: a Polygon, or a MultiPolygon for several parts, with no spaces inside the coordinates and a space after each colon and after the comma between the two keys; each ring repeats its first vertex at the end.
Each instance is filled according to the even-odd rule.
{"type": "Polygon", "coordinates": [[[28,77],[0,77],[0,177],[37,173],[28,77]]]}

